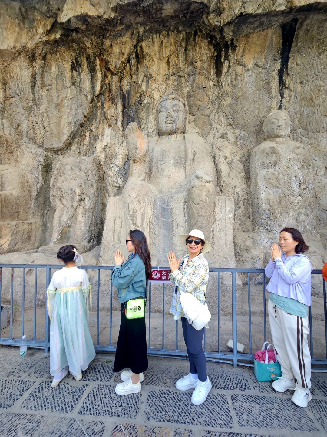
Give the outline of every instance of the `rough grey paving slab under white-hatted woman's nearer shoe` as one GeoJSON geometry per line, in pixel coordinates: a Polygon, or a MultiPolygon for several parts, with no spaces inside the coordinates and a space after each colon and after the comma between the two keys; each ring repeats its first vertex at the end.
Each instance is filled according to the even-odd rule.
{"type": "Polygon", "coordinates": [[[146,399],[147,420],[201,427],[232,428],[233,419],[225,395],[210,393],[201,405],[191,403],[191,390],[150,390],[146,399]]]}

